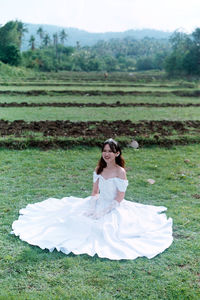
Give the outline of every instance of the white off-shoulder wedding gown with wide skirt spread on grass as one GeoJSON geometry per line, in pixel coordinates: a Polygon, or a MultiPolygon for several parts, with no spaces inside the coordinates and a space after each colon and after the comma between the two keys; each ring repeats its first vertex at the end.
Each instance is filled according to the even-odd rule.
{"type": "Polygon", "coordinates": [[[100,218],[86,216],[90,197],[49,198],[21,209],[11,233],[49,251],[97,254],[113,260],[152,258],[171,245],[172,219],[162,213],[165,207],[122,200],[104,214],[107,207],[112,207],[117,190],[125,192],[128,181],[105,179],[94,172],[96,180],[100,194],[95,210],[100,218]]]}

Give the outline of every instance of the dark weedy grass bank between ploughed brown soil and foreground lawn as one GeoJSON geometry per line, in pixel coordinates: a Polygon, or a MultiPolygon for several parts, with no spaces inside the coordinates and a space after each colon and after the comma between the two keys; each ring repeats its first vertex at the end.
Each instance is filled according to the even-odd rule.
{"type": "MultiPolygon", "coordinates": [[[[75,146],[99,146],[108,136],[99,135],[96,136],[45,136],[41,132],[22,132],[20,137],[14,135],[8,135],[0,137],[0,147],[9,149],[70,149],[75,146]]],[[[127,147],[130,145],[133,137],[132,135],[117,136],[115,138],[121,145],[127,147]]],[[[135,139],[139,143],[140,147],[151,147],[152,145],[158,145],[160,147],[170,148],[174,145],[192,145],[200,144],[200,136],[198,133],[190,132],[187,135],[177,135],[176,133],[167,136],[156,138],[156,135],[137,135],[135,139]]]]}

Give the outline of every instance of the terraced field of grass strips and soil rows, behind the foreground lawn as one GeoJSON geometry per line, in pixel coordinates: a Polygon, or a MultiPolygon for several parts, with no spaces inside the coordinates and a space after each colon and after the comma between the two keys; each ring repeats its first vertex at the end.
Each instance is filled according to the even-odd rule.
{"type": "Polygon", "coordinates": [[[48,76],[0,82],[1,146],[65,148],[108,137],[123,145],[200,142],[199,82],[148,73],[48,76]]]}

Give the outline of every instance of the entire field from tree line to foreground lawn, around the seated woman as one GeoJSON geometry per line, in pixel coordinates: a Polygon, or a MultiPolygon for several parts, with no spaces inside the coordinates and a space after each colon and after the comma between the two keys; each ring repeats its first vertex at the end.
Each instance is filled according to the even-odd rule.
{"type": "Polygon", "coordinates": [[[199,157],[198,80],[148,72],[0,78],[0,299],[199,299],[199,157]],[[28,203],[90,195],[109,137],[123,147],[126,199],[168,208],[169,249],[111,261],[49,253],[10,234],[28,203]]]}

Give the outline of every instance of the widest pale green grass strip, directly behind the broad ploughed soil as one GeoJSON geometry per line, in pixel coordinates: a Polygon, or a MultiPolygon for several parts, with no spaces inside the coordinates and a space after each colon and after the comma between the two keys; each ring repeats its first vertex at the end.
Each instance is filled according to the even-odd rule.
{"type": "Polygon", "coordinates": [[[0,119],[14,121],[70,120],[200,120],[200,107],[10,107],[1,108],[0,119]]]}

